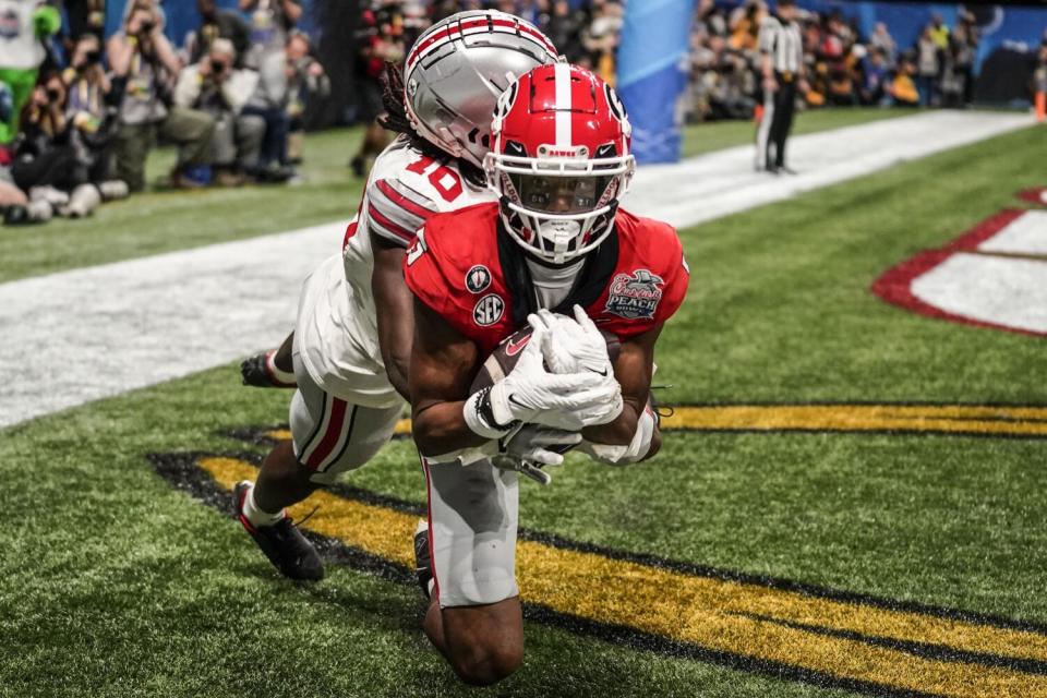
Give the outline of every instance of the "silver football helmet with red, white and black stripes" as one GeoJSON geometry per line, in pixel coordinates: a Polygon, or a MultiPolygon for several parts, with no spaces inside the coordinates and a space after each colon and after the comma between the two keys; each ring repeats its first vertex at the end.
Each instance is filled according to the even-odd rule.
{"type": "Polygon", "coordinates": [[[426,29],[408,51],[405,110],[423,139],[482,167],[498,96],[517,76],[555,60],[553,43],[520,17],[459,12],[426,29]]]}

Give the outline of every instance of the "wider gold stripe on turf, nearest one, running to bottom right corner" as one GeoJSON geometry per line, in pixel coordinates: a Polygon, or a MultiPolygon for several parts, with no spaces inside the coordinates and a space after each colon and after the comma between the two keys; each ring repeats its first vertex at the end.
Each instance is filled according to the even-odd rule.
{"type": "MultiPolygon", "coordinates": [[[[233,458],[203,458],[200,465],[227,490],[257,472],[233,458]]],[[[290,513],[301,517],[315,506],[318,510],[305,524],[310,530],[407,567],[413,565],[411,534],[417,517],[329,492],[313,494],[290,513]]],[[[955,698],[1047,697],[1044,675],[916,657],[753,616],[1047,662],[1047,636],[1032,631],[814,598],[533,541],[517,544],[517,575],[526,601],[713,651],[955,698]]]]}

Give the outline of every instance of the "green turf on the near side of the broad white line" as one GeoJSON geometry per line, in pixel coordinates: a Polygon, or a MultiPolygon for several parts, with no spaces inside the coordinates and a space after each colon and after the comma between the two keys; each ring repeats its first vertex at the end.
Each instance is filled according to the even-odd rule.
{"type": "MultiPolygon", "coordinates": [[[[660,342],[669,401],[1042,404],[1042,339],[928,320],[868,286],[1036,179],[1027,129],[683,237],[688,300],[660,342]]],[[[5,264],[5,262],[4,262],[5,264]]],[[[413,588],[345,568],[275,578],[233,522],[144,455],[226,453],[286,420],[233,366],[0,432],[0,694],[458,695],[413,588]]],[[[524,485],[522,522],[619,550],[1047,623],[1043,443],[951,436],[674,434],[648,466],[571,459],[524,485]]],[[[407,443],[353,485],[422,502],[407,443]]],[[[593,593],[599,594],[599,582],[593,593]]],[[[522,670],[484,695],[844,696],[530,623],[522,670]]]]}

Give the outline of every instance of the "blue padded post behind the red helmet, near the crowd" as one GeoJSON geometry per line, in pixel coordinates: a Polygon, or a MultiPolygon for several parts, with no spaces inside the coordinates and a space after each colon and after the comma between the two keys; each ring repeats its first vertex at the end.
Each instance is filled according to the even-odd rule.
{"type": "Polygon", "coordinates": [[[679,159],[681,111],[695,0],[645,0],[625,7],[617,91],[633,124],[638,163],[679,159]]]}

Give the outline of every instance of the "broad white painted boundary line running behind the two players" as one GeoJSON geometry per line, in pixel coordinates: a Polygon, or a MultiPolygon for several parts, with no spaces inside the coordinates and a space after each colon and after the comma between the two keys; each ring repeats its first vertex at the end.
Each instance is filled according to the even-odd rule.
{"type": "MultiPolygon", "coordinates": [[[[753,148],[642,168],[626,207],[677,226],[973,143],[1025,116],[930,112],[797,136],[802,173],[753,171],[753,148]]],[[[0,285],[0,428],[227,363],[291,329],[304,276],[344,222],[0,285]]],[[[229,376],[230,385],[237,381],[229,376]]]]}

